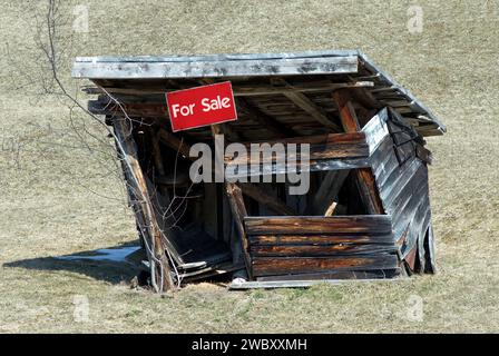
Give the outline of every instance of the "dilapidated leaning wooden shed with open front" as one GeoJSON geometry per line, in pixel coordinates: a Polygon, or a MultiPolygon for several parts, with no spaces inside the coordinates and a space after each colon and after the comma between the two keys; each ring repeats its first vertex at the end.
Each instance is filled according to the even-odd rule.
{"type": "MultiPolygon", "coordinates": [[[[72,76],[114,128],[156,290],[228,273],[247,288],[434,271],[424,137],[446,128],[362,52],[77,58],[72,76]],[[222,81],[237,120],[173,132],[165,93],[222,81]],[[194,184],[189,148],[214,134],[310,144],[309,192],[194,184]]],[[[283,174],[273,165],[248,175],[283,174]]]]}

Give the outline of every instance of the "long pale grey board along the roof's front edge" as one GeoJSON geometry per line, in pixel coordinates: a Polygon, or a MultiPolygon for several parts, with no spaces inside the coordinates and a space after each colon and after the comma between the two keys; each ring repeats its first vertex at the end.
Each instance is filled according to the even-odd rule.
{"type": "Polygon", "coordinates": [[[355,73],[356,56],[189,61],[76,61],[74,78],[163,79],[355,73]]]}

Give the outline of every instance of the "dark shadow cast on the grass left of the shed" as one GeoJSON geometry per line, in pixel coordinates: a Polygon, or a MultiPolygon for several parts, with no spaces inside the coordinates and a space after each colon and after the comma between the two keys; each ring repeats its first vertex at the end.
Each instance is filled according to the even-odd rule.
{"type": "Polygon", "coordinates": [[[140,273],[141,250],[137,244],[81,251],[56,257],[21,259],[3,267],[37,270],[66,270],[111,284],[129,281],[140,273]]]}

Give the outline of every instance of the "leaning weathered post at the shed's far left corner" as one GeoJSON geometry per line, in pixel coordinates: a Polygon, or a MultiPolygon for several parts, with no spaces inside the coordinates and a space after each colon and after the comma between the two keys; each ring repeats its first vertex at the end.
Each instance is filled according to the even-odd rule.
{"type": "Polygon", "coordinates": [[[128,119],[115,119],[112,126],[117,139],[118,154],[124,160],[123,167],[125,178],[129,186],[128,192],[133,195],[130,200],[137,206],[137,208],[134,209],[136,214],[140,215],[137,216],[139,228],[143,234],[148,235],[149,241],[145,243],[149,246],[154,246],[153,250],[146,249],[149,263],[151,266],[156,266],[159,261],[160,265],[159,270],[155,270],[156,274],[158,274],[158,271],[160,273],[156,276],[155,283],[157,291],[163,293],[164,290],[175,288],[175,284],[172,278],[169,261],[163,245],[162,231],[156,220],[153,204],[147,190],[147,181],[138,162],[137,147],[131,137],[133,128],[128,119]]]}

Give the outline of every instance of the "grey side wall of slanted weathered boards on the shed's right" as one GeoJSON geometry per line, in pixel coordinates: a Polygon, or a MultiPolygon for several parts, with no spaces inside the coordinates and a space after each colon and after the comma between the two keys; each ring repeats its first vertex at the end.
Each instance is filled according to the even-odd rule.
{"type": "Polygon", "coordinates": [[[372,169],[400,258],[410,271],[433,271],[428,167],[431,154],[391,115],[390,135],[371,156],[372,169]],[[394,121],[395,120],[395,121],[394,121]],[[427,244],[427,246],[425,246],[427,244]]]}

